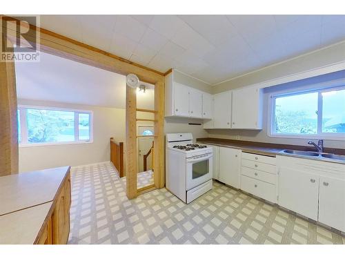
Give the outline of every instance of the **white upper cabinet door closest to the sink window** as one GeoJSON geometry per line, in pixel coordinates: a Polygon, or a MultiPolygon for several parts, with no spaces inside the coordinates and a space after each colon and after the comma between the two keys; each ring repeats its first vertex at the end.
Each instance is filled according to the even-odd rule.
{"type": "Polygon", "coordinates": [[[233,90],[232,128],[261,128],[260,90],[242,88],[233,90]]]}

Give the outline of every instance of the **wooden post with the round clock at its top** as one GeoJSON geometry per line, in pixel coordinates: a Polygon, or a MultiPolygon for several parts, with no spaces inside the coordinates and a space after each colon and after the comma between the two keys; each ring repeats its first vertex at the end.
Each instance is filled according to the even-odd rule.
{"type": "Polygon", "coordinates": [[[126,86],[126,193],[137,197],[137,89],[126,86]]]}

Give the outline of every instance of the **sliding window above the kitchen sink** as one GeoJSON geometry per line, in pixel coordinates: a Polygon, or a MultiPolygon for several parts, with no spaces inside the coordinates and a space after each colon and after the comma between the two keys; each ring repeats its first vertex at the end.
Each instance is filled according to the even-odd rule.
{"type": "Polygon", "coordinates": [[[344,137],[344,87],[276,95],[272,100],[271,136],[344,137]]]}

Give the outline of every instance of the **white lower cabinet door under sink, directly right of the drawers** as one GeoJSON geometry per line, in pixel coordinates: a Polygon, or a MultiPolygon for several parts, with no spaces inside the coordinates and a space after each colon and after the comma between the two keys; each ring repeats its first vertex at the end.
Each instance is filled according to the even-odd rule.
{"type": "Polygon", "coordinates": [[[319,177],[304,171],[279,168],[279,202],[286,209],[317,220],[319,177]]]}

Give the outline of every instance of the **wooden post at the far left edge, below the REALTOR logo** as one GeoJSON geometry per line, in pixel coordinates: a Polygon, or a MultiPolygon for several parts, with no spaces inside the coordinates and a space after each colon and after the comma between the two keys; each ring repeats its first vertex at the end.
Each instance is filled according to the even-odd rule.
{"type": "Polygon", "coordinates": [[[0,176],[18,173],[17,123],[14,63],[0,62],[0,176]]]}

